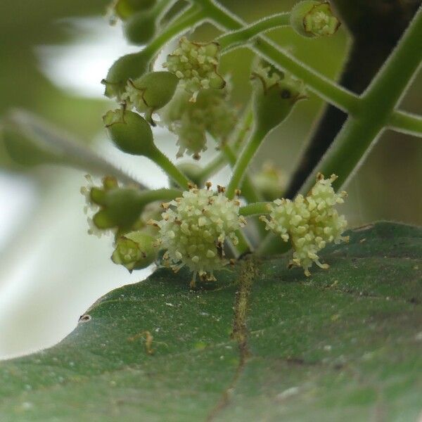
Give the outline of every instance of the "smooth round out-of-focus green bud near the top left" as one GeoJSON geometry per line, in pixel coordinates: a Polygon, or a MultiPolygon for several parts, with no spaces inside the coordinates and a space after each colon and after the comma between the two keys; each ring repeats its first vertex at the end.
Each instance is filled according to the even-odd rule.
{"type": "Polygon", "coordinates": [[[154,10],[134,13],[124,23],[124,36],[136,45],[148,44],[157,31],[157,15],[154,10]]]}

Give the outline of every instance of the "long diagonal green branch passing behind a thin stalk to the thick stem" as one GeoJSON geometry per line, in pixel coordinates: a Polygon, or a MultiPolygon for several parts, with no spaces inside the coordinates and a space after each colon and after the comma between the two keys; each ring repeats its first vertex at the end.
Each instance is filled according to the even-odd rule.
{"type": "MultiPolygon", "coordinates": [[[[202,0],[200,4],[207,18],[210,18],[219,27],[226,30],[239,30],[247,25],[238,16],[221,5],[217,6],[212,0],[202,0]]],[[[257,37],[253,41],[252,48],[277,67],[285,69],[295,77],[302,79],[311,91],[314,91],[333,106],[345,110],[347,113],[354,113],[359,108],[359,96],[339,87],[335,82],[307,67],[297,58],[280,51],[279,46],[266,37],[257,37]]]]}

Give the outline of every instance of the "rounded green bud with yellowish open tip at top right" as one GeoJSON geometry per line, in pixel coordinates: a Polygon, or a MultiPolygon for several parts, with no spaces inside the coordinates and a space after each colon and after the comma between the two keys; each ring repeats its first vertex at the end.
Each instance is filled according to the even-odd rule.
{"type": "Polygon", "coordinates": [[[292,9],[290,25],[303,37],[325,37],[335,34],[340,21],[328,1],[305,0],[292,9]]]}

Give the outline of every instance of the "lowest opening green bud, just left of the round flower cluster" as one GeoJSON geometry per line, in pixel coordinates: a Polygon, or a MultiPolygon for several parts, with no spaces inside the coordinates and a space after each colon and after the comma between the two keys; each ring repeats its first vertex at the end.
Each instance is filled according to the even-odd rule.
{"type": "Polygon", "coordinates": [[[126,267],[130,272],[143,269],[152,264],[158,250],[154,248],[155,238],[141,231],[132,231],[116,241],[116,248],[111,255],[115,264],[126,267]]]}

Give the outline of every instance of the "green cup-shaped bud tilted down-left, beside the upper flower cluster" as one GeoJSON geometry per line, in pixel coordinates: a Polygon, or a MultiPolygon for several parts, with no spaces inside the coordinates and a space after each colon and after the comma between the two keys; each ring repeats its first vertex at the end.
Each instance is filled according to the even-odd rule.
{"type": "Polygon", "coordinates": [[[178,83],[170,72],[149,72],[134,81],[129,79],[124,99],[139,113],[146,113],[146,120],[155,125],[151,115],[172,99],[178,83]]]}

